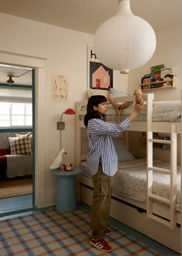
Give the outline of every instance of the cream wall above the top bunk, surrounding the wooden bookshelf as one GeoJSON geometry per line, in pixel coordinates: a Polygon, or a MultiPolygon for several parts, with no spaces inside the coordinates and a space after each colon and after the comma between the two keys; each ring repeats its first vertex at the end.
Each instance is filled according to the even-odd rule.
{"type": "MultiPolygon", "coordinates": [[[[157,48],[153,57],[143,67],[132,70],[129,73],[129,92],[133,94],[136,87],[141,83],[141,77],[150,73],[150,67],[159,64],[175,67],[175,86],[176,89],[152,90],[154,101],[180,100],[180,90],[182,88],[182,25],[172,26],[157,32],[157,48]]],[[[142,39],[141,39],[142,40],[142,39]]],[[[148,93],[148,91],[147,91],[148,93]]]]}

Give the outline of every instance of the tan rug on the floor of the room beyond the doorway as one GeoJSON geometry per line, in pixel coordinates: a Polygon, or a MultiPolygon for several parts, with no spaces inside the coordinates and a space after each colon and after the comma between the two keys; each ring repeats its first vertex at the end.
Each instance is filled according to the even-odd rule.
{"type": "Polygon", "coordinates": [[[0,199],[32,193],[32,178],[0,181],[0,199]]]}

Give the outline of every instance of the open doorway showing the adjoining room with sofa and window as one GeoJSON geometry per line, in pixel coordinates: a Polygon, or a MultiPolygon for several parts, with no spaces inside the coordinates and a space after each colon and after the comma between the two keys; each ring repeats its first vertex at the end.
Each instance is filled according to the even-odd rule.
{"type": "Polygon", "coordinates": [[[0,90],[2,217],[35,207],[35,69],[0,63],[0,90]]]}

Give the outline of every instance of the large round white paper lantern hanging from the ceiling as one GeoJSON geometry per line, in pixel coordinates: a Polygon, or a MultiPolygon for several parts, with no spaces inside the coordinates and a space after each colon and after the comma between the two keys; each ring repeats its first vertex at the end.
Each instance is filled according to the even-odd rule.
{"type": "Polygon", "coordinates": [[[150,60],[156,36],[148,22],[133,15],[130,0],[120,0],[116,15],[97,29],[93,48],[106,67],[128,73],[150,60]]]}

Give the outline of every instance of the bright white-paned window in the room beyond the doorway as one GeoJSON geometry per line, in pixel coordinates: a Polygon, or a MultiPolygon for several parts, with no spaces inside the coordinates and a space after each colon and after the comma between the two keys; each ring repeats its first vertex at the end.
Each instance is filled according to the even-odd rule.
{"type": "Polygon", "coordinates": [[[32,103],[0,102],[0,127],[32,126],[32,103]]]}

